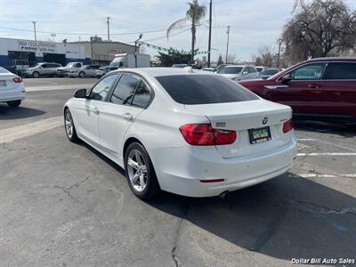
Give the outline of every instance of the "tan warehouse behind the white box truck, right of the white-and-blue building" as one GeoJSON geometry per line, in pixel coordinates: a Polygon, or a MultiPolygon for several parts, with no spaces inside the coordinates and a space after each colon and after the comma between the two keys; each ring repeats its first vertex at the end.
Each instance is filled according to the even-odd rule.
{"type": "Polygon", "coordinates": [[[75,42],[85,46],[85,58],[90,58],[93,64],[108,65],[117,53],[134,53],[134,45],[121,42],[102,41],[101,37],[91,37],[91,41],[75,42]]]}

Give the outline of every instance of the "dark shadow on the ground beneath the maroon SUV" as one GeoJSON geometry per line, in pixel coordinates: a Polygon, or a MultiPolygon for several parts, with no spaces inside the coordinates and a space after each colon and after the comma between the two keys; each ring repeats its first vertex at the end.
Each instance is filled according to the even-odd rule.
{"type": "Polygon", "coordinates": [[[306,132],[338,134],[343,137],[354,137],[356,135],[356,123],[330,123],[295,119],[295,129],[306,132]]]}

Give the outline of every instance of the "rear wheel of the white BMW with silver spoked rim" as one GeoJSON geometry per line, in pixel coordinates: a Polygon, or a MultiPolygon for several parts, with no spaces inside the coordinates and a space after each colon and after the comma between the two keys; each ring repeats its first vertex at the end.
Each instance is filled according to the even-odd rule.
{"type": "Polygon", "coordinates": [[[150,156],[139,142],[132,142],[125,152],[127,182],[137,198],[156,198],[160,191],[150,156]]]}

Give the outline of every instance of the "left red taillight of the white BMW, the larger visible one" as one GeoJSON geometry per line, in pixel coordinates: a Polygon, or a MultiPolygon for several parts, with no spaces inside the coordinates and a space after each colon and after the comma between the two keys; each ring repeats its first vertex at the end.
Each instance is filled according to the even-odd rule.
{"type": "Polygon", "coordinates": [[[191,145],[225,145],[236,140],[235,131],[214,129],[210,124],[182,125],[179,130],[185,141],[191,145]]]}

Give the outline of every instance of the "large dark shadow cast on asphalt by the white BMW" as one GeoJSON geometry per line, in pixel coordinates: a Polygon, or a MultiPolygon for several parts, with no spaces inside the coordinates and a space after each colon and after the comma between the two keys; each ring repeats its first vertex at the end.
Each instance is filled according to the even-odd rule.
{"type": "Polygon", "coordinates": [[[167,214],[178,206],[181,213],[175,216],[271,257],[356,255],[356,198],[294,174],[231,192],[225,199],[165,193],[149,204],[167,214]]]}

